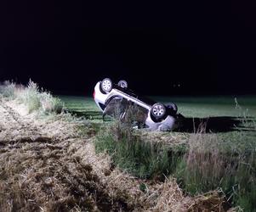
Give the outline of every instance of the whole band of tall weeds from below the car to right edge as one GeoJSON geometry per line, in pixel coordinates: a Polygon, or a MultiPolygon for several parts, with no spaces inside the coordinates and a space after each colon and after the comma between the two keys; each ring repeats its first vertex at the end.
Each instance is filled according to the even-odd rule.
{"type": "MultiPolygon", "coordinates": [[[[186,193],[222,191],[229,207],[255,211],[256,148],[248,133],[239,129],[228,135],[206,133],[202,123],[188,136],[186,148],[172,148],[150,137],[142,139],[130,123],[117,121],[102,129],[96,151],[109,153],[115,165],[135,176],[161,179],[172,174],[186,193]]],[[[246,117],[242,125],[256,131],[246,117]]]]}

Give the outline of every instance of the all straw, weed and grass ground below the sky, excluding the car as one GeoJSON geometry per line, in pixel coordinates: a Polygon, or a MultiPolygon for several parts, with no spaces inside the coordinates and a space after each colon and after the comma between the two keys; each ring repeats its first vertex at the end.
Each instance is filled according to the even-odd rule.
{"type": "Polygon", "coordinates": [[[185,116],[164,132],[59,98],[0,85],[1,211],[256,211],[254,97],[152,97],[185,116]]]}

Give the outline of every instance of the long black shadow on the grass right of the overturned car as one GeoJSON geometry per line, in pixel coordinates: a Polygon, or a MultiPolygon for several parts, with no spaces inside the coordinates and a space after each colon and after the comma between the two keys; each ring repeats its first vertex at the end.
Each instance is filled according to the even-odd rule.
{"type": "MultiPolygon", "coordinates": [[[[175,131],[204,131],[204,132],[227,132],[227,131],[255,131],[253,126],[245,126],[244,118],[231,116],[217,116],[208,118],[184,118],[181,125],[175,131]]],[[[252,117],[247,117],[247,124],[253,123],[252,117]]]]}

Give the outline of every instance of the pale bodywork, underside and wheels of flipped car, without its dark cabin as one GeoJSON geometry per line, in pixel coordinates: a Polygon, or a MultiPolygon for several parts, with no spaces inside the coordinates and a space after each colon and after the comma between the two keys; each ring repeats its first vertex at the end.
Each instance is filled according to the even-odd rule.
{"type": "MultiPolygon", "coordinates": [[[[175,103],[156,103],[151,99],[139,97],[128,89],[126,81],[119,81],[113,84],[111,79],[105,78],[98,81],[94,87],[94,101],[98,105],[103,115],[106,114],[108,104],[112,100],[133,103],[145,111],[145,126],[153,131],[171,131],[174,129],[177,106],[175,103]]],[[[125,113],[125,111],[124,111],[125,113]]],[[[123,113],[122,113],[123,115],[123,113]]]]}

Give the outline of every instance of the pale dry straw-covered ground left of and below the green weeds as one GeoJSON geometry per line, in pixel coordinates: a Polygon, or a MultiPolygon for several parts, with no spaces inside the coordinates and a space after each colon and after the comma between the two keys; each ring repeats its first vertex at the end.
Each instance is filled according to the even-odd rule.
{"type": "Polygon", "coordinates": [[[0,102],[0,211],[187,211],[196,203],[173,180],[142,181],[113,168],[79,125],[0,102]]]}

